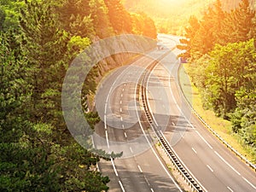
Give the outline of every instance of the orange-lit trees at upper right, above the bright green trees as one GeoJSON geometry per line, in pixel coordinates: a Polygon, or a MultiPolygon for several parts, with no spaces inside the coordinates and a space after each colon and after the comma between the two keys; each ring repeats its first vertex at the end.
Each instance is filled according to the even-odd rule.
{"type": "Polygon", "coordinates": [[[255,11],[248,0],[242,0],[230,12],[224,11],[220,0],[217,0],[200,21],[195,17],[190,18],[189,26],[185,29],[186,38],[181,40],[182,45],[178,48],[186,50],[182,56],[194,61],[211,51],[215,44],[247,41],[253,35],[254,16],[255,11]]]}

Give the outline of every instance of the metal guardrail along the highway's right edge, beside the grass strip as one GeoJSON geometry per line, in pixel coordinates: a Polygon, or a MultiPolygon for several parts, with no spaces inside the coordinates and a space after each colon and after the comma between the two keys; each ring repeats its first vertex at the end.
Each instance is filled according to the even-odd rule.
{"type": "MultiPolygon", "coordinates": [[[[181,67],[182,67],[182,65],[179,64],[178,72],[180,71],[180,68],[181,68],[181,67]]],[[[178,76],[179,76],[179,73],[178,73],[178,76]]],[[[247,160],[247,158],[246,158],[245,156],[243,156],[242,154],[240,154],[235,148],[233,148],[233,147],[230,145],[230,143],[227,143],[227,142],[224,140],[224,138],[220,137],[220,136],[218,135],[218,133],[217,133],[216,131],[214,131],[214,130],[212,129],[212,127],[211,127],[210,125],[208,125],[207,122],[206,122],[204,119],[202,119],[201,115],[195,111],[195,108],[193,108],[192,104],[189,102],[189,99],[187,98],[187,96],[185,96],[185,94],[184,94],[184,92],[183,92],[183,88],[182,88],[182,85],[181,85],[181,82],[180,82],[180,78],[178,78],[178,85],[179,85],[179,87],[180,87],[180,90],[181,90],[182,93],[183,93],[183,97],[185,98],[185,101],[189,104],[189,108],[191,109],[191,111],[192,111],[193,113],[195,113],[195,116],[196,116],[198,119],[200,119],[201,123],[202,123],[203,125],[205,125],[205,126],[207,127],[207,129],[208,129],[209,131],[211,131],[212,134],[213,134],[215,137],[218,138],[218,140],[220,140],[222,143],[224,143],[224,145],[225,145],[227,148],[230,148],[230,150],[231,150],[233,153],[235,153],[241,160],[244,160],[244,162],[245,162],[248,166],[250,166],[251,168],[253,168],[254,172],[256,172],[256,165],[254,165],[251,161],[247,160]]]]}

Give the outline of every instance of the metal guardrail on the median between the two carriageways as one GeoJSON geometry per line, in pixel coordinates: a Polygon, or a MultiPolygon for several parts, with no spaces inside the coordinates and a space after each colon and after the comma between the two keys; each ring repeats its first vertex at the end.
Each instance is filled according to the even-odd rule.
{"type": "MultiPolygon", "coordinates": [[[[168,53],[169,52],[162,55],[159,60],[164,58],[168,53]]],[[[176,166],[177,171],[183,176],[185,181],[189,183],[189,186],[191,187],[191,189],[193,189],[194,191],[197,191],[197,192],[203,192],[201,185],[195,180],[195,178],[193,178],[191,176],[191,174],[189,174],[189,172],[185,169],[185,166],[183,166],[183,163],[181,162],[181,160],[179,160],[177,158],[177,155],[172,151],[172,147],[166,141],[166,137],[164,137],[164,135],[160,131],[159,127],[154,123],[153,114],[150,112],[150,110],[148,108],[147,88],[145,86],[143,86],[143,84],[146,84],[146,82],[148,81],[149,75],[150,75],[150,73],[148,73],[148,72],[151,72],[152,69],[157,65],[157,63],[158,63],[158,61],[154,61],[151,65],[149,65],[149,67],[142,74],[141,79],[139,81],[141,84],[140,91],[142,94],[144,112],[148,119],[148,123],[150,124],[151,128],[154,130],[155,135],[157,136],[161,146],[166,151],[166,154],[172,161],[172,164],[174,166],[176,166]]]]}

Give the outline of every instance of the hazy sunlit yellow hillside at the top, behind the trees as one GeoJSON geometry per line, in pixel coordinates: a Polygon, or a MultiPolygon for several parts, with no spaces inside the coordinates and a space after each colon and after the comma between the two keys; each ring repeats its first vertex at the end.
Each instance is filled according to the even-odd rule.
{"type": "MultiPolygon", "coordinates": [[[[234,9],[241,0],[221,0],[225,10],[234,9]]],[[[145,12],[155,22],[158,32],[183,34],[190,15],[200,18],[208,5],[215,0],[123,0],[125,8],[132,12],[145,12]]],[[[252,6],[256,3],[251,0],[252,6]]]]}

